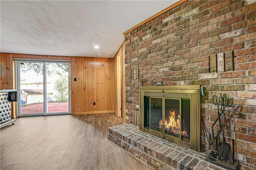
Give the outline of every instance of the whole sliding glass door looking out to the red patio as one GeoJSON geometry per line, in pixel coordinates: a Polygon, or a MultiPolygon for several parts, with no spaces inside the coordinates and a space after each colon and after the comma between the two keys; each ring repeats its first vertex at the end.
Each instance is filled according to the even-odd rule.
{"type": "Polygon", "coordinates": [[[70,113],[70,61],[14,61],[18,116],[70,113]]]}

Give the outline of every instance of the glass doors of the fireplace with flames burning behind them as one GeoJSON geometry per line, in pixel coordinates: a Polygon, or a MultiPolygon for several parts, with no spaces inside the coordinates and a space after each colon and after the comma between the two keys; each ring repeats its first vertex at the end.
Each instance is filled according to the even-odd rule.
{"type": "Polygon", "coordinates": [[[190,100],[144,96],[144,127],[190,141],[190,100]]]}

